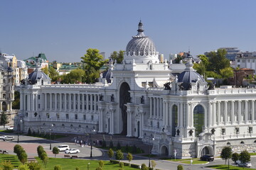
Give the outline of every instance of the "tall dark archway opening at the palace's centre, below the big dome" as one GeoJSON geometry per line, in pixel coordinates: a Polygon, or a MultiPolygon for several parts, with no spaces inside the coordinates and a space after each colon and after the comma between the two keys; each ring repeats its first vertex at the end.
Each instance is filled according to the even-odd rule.
{"type": "Polygon", "coordinates": [[[121,108],[122,112],[122,135],[127,135],[127,104],[131,100],[131,96],[129,93],[129,84],[127,82],[122,83],[120,89],[119,89],[119,107],[121,108]]]}

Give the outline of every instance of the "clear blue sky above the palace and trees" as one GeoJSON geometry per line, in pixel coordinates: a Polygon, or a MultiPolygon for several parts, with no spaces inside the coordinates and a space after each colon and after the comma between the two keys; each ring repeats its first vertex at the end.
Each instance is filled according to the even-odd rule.
{"type": "Polygon", "coordinates": [[[23,60],[43,52],[51,62],[80,62],[88,48],[125,50],[145,34],[164,57],[239,47],[256,51],[256,1],[1,0],[0,49],[23,60]]]}

